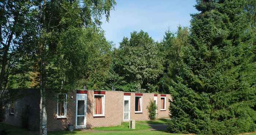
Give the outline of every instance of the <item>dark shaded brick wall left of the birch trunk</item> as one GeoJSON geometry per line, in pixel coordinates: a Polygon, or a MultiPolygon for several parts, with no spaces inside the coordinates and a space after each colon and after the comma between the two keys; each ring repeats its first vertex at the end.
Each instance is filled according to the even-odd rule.
{"type": "Polygon", "coordinates": [[[39,130],[40,91],[37,89],[25,89],[20,90],[18,94],[23,96],[12,102],[14,104],[14,114],[10,114],[10,104],[5,108],[5,123],[21,127],[22,112],[26,105],[29,105],[29,129],[39,130]]]}

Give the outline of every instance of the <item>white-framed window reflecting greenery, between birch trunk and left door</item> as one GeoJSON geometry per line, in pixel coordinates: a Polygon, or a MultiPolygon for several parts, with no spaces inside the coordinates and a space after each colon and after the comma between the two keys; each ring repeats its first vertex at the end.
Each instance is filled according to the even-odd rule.
{"type": "Polygon", "coordinates": [[[67,116],[67,94],[58,94],[57,118],[67,116]]]}

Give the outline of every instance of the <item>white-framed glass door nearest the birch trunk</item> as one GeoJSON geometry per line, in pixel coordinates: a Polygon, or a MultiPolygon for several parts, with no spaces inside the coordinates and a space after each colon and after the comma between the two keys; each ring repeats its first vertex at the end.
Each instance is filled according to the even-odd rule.
{"type": "Polygon", "coordinates": [[[86,127],[87,94],[76,94],[76,128],[86,127]]]}

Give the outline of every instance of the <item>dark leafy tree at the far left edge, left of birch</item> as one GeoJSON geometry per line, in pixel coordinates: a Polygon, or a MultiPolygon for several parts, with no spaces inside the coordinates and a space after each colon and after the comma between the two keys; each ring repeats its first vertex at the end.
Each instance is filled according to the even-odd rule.
{"type": "MultiPolygon", "coordinates": [[[[18,77],[20,65],[24,64],[26,59],[26,49],[21,42],[23,35],[26,34],[25,30],[33,25],[30,17],[35,9],[32,5],[36,6],[36,3],[36,0],[2,0],[0,2],[0,109],[9,103],[9,94],[14,94],[5,92],[8,81],[18,77]]],[[[0,111],[0,113],[3,112],[0,111]]]]}

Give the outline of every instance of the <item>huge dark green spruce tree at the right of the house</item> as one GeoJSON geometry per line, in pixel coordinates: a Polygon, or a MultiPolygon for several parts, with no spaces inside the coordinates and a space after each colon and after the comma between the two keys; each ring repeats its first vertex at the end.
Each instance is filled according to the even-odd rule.
{"type": "Polygon", "coordinates": [[[190,45],[170,81],[170,132],[256,130],[255,22],[247,10],[252,1],[197,0],[190,45]]]}

